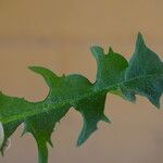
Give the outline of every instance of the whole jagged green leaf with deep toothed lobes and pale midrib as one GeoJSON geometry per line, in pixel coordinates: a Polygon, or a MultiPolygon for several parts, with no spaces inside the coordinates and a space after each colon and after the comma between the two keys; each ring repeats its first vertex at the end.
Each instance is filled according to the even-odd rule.
{"type": "Polygon", "coordinates": [[[163,93],[163,62],[146,46],[140,33],[129,62],[111,48],[106,54],[98,46],[91,47],[90,50],[98,66],[93,84],[78,74],[57,76],[45,67],[30,66],[29,68],[41,75],[49,86],[49,95],[43,101],[29,102],[0,92],[0,122],[4,130],[2,154],[8,139],[17,126],[24,123],[23,135],[30,133],[37,141],[39,163],[48,163],[47,143],[52,146],[53,129],[71,106],[84,118],[77,140],[77,146],[83,145],[97,130],[100,121],[111,123],[103,113],[108,92],[131,102],[136,101],[136,95],[140,95],[160,108],[163,93]]]}

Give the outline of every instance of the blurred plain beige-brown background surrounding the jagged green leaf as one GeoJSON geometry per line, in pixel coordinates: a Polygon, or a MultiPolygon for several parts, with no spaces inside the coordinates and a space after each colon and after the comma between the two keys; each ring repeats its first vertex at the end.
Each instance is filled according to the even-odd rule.
{"type": "MultiPolygon", "coordinates": [[[[0,0],[0,89],[30,101],[43,99],[48,88],[28,65],[60,75],[82,73],[93,82],[96,62],[89,47],[112,46],[129,59],[139,30],[163,57],[162,0],[0,0]]],[[[105,112],[113,124],[100,123],[76,148],[82,116],[72,109],[53,134],[49,163],[163,162],[162,111],[145,98],[131,104],[108,96],[105,112]]],[[[36,143],[30,135],[20,138],[21,130],[1,163],[37,163],[36,143]]]]}

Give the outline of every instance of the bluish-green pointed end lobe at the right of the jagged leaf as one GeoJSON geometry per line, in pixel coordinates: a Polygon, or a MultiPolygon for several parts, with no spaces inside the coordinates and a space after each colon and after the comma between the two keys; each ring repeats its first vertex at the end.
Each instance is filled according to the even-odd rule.
{"type": "Polygon", "coordinates": [[[163,62],[146,46],[140,33],[121,88],[128,99],[135,101],[135,95],[140,95],[160,108],[163,92],[163,62]]]}

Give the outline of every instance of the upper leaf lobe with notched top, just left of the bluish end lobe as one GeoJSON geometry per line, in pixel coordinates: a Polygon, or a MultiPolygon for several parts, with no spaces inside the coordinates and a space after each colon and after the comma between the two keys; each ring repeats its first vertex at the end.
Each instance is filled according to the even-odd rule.
{"type": "Polygon", "coordinates": [[[124,80],[124,73],[128,66],[124,57],[113,52],[111,48],[108,54],[104,54],[101,47],[91,47],[91,52],[98,64],[96,89],[112,88],[112,86],[124,80]]]}

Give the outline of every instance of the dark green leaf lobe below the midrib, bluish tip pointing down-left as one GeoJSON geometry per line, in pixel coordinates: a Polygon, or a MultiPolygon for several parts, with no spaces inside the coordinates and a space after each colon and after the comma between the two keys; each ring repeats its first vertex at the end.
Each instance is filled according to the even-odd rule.
{"type": "Polygon", "coordinates": [[[90,97],[78,101],[74,106],[79,111],[84,117],[84,127],[77,140],[77,146],[83,145],[89,136],[98,129],[97,124],[99,121],[111,123],[104,115],[105,95],[90,97]]]}

